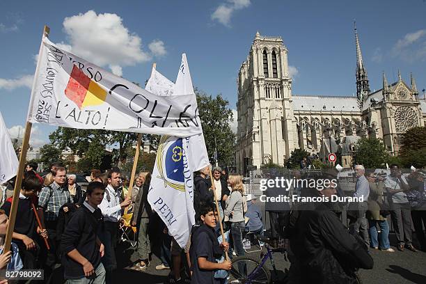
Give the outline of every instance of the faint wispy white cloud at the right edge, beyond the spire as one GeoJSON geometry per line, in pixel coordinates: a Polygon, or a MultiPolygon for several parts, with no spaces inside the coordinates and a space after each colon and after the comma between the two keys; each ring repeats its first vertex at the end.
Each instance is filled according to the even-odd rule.
{"type": "Polygon", "coordinates": [[[407,33],[397,40],[390,54],[407,62],[426,61],[426,29],[407,33]]]}

